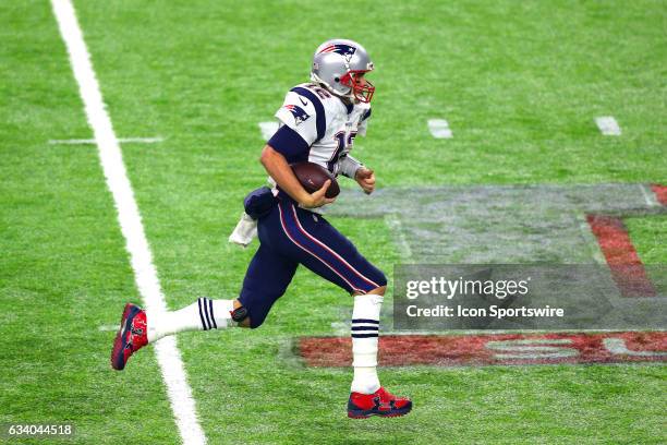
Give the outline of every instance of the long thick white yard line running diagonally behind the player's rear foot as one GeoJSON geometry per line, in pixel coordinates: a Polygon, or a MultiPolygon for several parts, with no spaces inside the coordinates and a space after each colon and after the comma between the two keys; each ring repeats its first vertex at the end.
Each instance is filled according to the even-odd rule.
{"type": "MultiPolygon", "coordinates": [[[[121,231],[126,240],[134,278],[146,309],[151,312],[167,310],[160,289],[153,255],[142,225],[142,217],[125,172],[118,139],[107,113],[99,84],[93,71],[90,56],[78,26],[71,0],[51,0],[60,34],[70,55],[74,77],[78,83],[88,124],[95,134],[99,158],[113,195],[121,231]]],[[[120,305],[119,305],[120,311],[120,305]]],[[[167,385],[167,394],[179,432],[185,444],[205,444],[206,437],[198,423],[192,389],[185,377],[181,353],[175,337],[166,337],[155,344],[157,360],[167,385]]],[[[131,372],[131,371],[125,371],[131,372]]]]}

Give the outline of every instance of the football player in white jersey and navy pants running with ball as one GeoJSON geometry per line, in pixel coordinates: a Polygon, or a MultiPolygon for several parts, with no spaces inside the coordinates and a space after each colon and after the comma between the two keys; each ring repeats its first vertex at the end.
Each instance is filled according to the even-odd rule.
{"type": "Polygon", "coordinates": [[[348,416],[397,417],[412,409],[410,399],[387,392],[377,376],[385,275],[318,212],[333,202],[325,196],[330,181],[308,193],[290,168],[290,164],[307,160],[333,175],[354,179],[366,193],[374,191],[373,170],[350,155],[354,137],[365,135],[371,117],[375,93],[366,79],[371,71],[368,53],[353,40],[332,39],[316,49],[311,82],[287,94],[276,112],[280,127],[262,152],[262,165],[275,187],[258,189],[246,197],[246,214],[234,231],[238,241],[244,244],[255,232],[259,238],[239,298],[199,298],[186,308],[167,313],[146,313],[126,304],[111,353],[114,369],[122,370],[134,352],[167,335],[231,326],[259,327],[302,264],[354,299],[351,328],[354,377],[348,416]]]}

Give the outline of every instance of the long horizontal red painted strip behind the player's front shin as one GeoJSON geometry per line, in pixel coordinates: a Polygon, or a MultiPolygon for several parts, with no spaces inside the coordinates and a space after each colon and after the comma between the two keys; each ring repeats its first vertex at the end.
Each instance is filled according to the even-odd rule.
{"type": "MultiPolygon", "coordinates": [[[[348,337],[302,337],[307,366],[352,363],[348,337]]],[[[622,363],[667,361],[667,333],[387,335],[379,338],[379,363],[408,365],[490,365],[622,363]]]]}

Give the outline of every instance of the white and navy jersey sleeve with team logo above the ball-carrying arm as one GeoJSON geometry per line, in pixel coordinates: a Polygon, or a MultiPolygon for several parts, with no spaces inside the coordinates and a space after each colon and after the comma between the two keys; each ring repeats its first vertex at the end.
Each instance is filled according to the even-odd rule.
{"type": "Polygon", "coordinates": [[[307,154],[317,141],[317,110],[312,100],[299,93],[289,92],[282,107],[276,111],[281,127],[268,144],[286,157],[307,154]]]}

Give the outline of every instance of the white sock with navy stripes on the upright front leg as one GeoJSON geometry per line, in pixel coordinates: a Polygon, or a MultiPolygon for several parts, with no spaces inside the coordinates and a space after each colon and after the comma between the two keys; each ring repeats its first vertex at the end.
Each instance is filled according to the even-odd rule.
{"type": "Polygon", "coordinates": [[[353,393],[373,394],[379,389],[377,377],[377,339],[383,296],[373,293],[354,297],[352,311],[353,393]]]}

